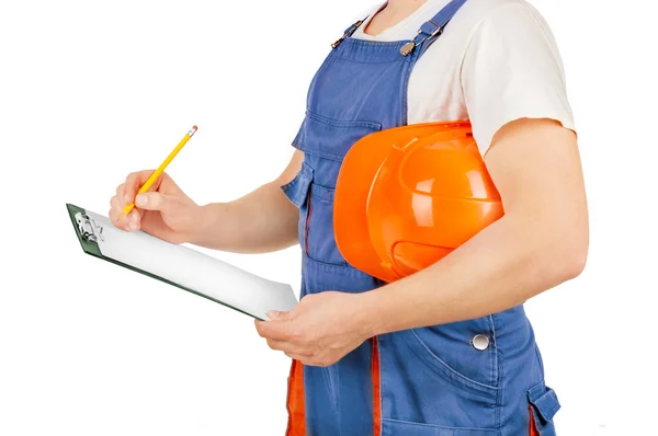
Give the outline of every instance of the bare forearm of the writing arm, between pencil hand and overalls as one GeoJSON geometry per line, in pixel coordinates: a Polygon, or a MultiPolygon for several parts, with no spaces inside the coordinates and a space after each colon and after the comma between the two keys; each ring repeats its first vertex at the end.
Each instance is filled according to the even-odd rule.
{"type": "Polygon", "coordinates": [[[202,206],[189,242],[236,253],[281,250],[297,241],[298,214],[279,183],[268,183],[234,202],[202,206]]]}

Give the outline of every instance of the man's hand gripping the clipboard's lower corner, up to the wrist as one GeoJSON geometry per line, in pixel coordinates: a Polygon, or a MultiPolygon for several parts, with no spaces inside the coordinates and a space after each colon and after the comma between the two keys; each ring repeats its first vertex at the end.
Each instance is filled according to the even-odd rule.
{"type": "Polygon", "coordinates": [[[371,337],[362,294],[325,291],[302,298],[290,312],[256,321],[272,349],[309,366],[329,366],[371,337]]]}

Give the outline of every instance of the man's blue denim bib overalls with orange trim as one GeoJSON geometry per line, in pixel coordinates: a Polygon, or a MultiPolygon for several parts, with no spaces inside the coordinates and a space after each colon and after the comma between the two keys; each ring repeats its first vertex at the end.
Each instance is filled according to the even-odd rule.
{"type": "MultiPolygon", "coordinates": [[[[465,1],[452,1],[424,23],[408,56],[400,50],[409,41],[352,38],[356,23],[314,77],[293,142],[304,152],[304,163],[282,186],[299,208],[300,298],[384,285],[349,265],[336,245],[338,173],[360,138],[407,124],[411,69],[465,1]]],[[[531,434],[531,418],[541,436],[549,436],[559,409],[544,383],[542,357],[522,305],[474,320],[379,335],[334,365],[305,366],[304,393],[306,434],[313,436],[378,431],[386,436],[521,436],[531,434]],[[373,341],[378,349],[378,429],[373,423],[373,341]]]]}

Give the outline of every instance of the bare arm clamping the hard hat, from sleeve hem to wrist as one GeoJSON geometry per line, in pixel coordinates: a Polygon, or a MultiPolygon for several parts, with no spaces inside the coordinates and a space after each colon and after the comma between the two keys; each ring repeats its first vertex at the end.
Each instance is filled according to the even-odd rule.
{"type": "Polygon", "coordinates": [[[585,267],[588,211],[575,134],[521,119],[499,130],[485,160],[506,215],[431,267],[363,294],[372,334],[506,310],[585,267]]]}

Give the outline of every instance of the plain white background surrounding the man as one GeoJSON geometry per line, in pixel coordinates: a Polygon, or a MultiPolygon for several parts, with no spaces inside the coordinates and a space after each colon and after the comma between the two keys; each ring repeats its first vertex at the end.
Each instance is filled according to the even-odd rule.
{"type": "MultiPolygon", "coordinates": [[[[658,435],[653,2],[532,3],[565,61],[591,211],[585,273],[526,303],[558,434],[658,435]]],[[[283,435],[288,359],[252,320],[83,254],[65,204],[105,215],[193,124],[169,173],[197,203],[270,181],[329,44],[372,4],[0,3],[0,435],[283,435]]],[[[298,289],[297,249],[212,254],[298,289]]]]}

